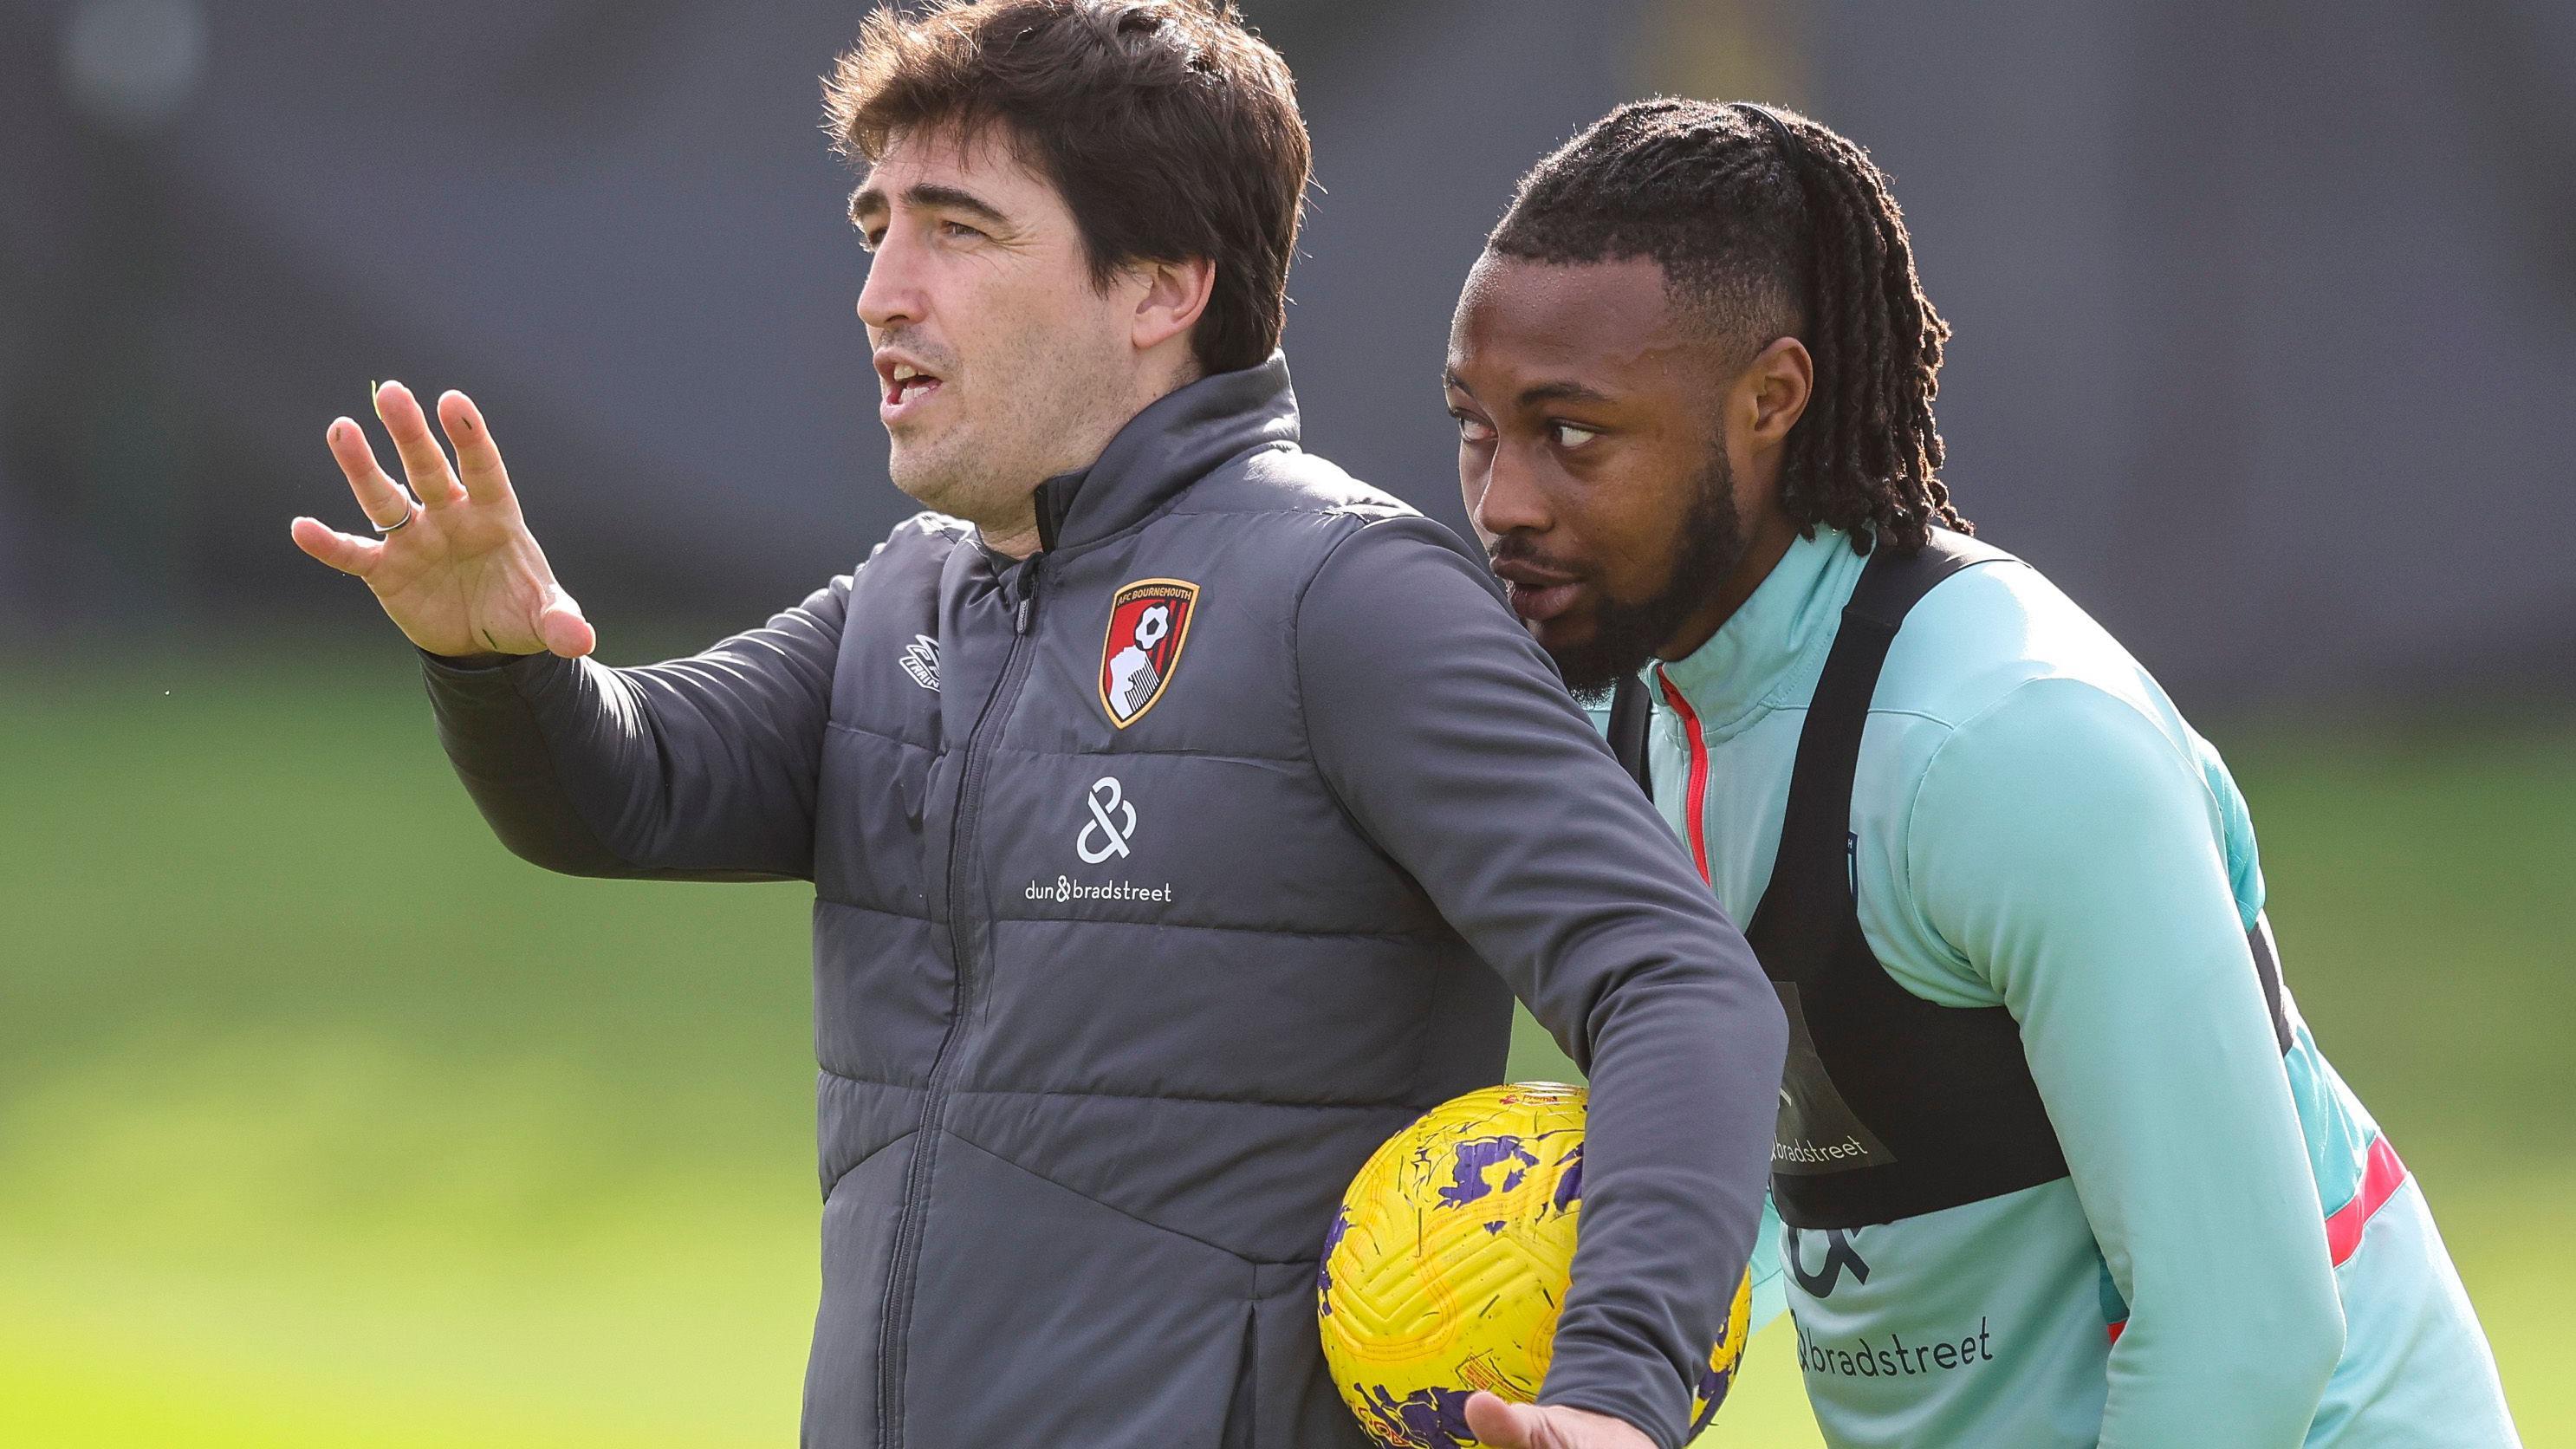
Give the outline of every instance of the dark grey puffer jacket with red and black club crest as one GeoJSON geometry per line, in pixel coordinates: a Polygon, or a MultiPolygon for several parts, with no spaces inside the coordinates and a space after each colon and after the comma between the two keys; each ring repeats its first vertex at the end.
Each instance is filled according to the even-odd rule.
{"type": "Polygon", "coordinates": [[[1283,361],[1038,503],[1030,562],[922,516],[688,660],[428,670],[531,861],[817,887],[806,1444],[1363,1444],[1324,1230],[1520,993],[1595,1091],[1546,1400],[1669,1449],[1770,1160],[1744,938],[1481,559],[1298,451],[1283,361]]]}

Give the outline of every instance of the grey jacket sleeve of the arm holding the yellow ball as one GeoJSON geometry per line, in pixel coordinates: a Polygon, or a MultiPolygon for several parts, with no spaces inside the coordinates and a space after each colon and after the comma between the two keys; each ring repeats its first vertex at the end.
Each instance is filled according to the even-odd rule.
{"type": "Polygon", "coordinates": [[[1342,807],[1592,1078],[1540,1400],[1672,1449],[1762,1217],[1780,1003],[1455,534],[1345,539],[1298,606],[1298,673],[1342,807]]]}

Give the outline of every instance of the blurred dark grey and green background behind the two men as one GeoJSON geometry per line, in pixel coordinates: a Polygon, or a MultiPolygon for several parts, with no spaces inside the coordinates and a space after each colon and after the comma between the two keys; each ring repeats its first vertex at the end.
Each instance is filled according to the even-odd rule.
{"type": "MultiPolygon", "coordinates": [[[[1947,480],[2228,755],[2300,1008],[2576,1439],[2576,8],[1249,0],[1319,451],[1458,523],[1515,175],[1656,90],[1893,170],[1947,480]]],[[[858,0],[0,0],[0,1444],[734,1449],[814,1312],[809,892],[510,859],[294,513],[471,389],[611,660],[912,511],[858,0]]],[[[1571,1067],[1522,1031],[1512,1073],[1571,1067]]],[[[1814,1446],[1790,1330],[1713,1444],[1814,1446]]]]}

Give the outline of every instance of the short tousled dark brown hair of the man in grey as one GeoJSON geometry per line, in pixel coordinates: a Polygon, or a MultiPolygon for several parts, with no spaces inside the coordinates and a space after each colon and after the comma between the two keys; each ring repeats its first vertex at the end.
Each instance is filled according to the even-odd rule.
{"type": "Polygon", "coordinates": [[[1247,369],[1278,348],[1311,144],[1288,62],[1231,3],[884,5],[824,80],[824,116],[860,162],[912,131],[999,126],[1072,209],[1092,284],[1208,258],[1198,366],[1247,369]]]}

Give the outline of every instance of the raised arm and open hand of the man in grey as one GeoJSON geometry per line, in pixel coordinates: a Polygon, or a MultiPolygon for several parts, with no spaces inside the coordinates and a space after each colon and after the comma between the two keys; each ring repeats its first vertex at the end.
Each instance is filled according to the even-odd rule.
{"type": "MultiPolygon", "coordinates": [[[[438,400],[453,469],[410,389],[384,384],[376,413],[417,513],[376,539],[296,518],[294,539],[366,580],[428,655],[440,743],[495,833],[572,874],[809,874],[848,580],[703,655],[595,665],[582,655],[598,637],[536,547],[474,402],[438,400]]],[[[374,523],[412,508],[358,423],[335,420],[330,449],[374,523]]]]}

